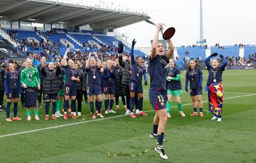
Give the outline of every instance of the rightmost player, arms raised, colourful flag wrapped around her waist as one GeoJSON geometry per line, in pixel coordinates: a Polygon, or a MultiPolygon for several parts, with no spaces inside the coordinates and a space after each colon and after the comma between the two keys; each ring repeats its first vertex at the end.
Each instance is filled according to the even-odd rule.
{"type": "Polygon", "coordinates": [[[217,119],[217,121],[220,122],[223,110],[223,86],[221,81],[223,71],[225,71],[228,62],[223,55],[220,55],[220,58],[223,60],[223,64],[221,65],[217,59],[210,61],[210,58],[216,57],[217,55],[218,53],[213,53],[205,60],[209,72],[206,91],[208,90],[209,110],[213,113],[212,120],[217,119]]]}

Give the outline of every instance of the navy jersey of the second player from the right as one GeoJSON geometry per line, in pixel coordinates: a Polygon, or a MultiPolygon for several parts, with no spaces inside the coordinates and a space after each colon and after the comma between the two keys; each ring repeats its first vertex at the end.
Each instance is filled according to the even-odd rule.
{"type": "Polygon", "coordinates": [[[203,74],[203,72],[199,67],[195,67],[195,69],[193,70],[187,70],[186,79],[189,80],[189,85],[191,89],[198,89],[198,87],[202,88],[201,74],[203,74]]]}

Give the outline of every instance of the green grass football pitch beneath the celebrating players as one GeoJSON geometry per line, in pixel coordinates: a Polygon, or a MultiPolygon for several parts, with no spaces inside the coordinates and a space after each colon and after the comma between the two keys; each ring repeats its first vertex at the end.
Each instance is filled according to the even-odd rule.
{"type": "MultiPolygon", "coordinates": [[[[182,72],[183,87],[184,74],[182,72]]],[[[208,72],[203,74],[205,85],[208,72]]],[[[149,104],[148,89],[149,86],[144,86],[144,111],[149,116],[136,119],[123,116],[122,105],[116,114],[81,123],[71,118],[46,121],[43,108],[40,108],[41,120],[28,122],[21,107],[18,116],[23,120],[7,123],[5,113],[1,112],[0,162],[256,162],[254,69],[223,72],[224,103],[220,123],[210,120],[212,115],[206,111],[204,118],[189,116],[193,108],[190,96],[184,91],[185,118],[178,114],[173,101],[164,142],[169,160],[161,159],[152,150],[156,140],[149,138],[154,111],[149,104]],[[138,157],[108,157],[105,147],[110,154],[149,151],[138,157]]],[[[203,101],[203,108],[208,110],[205,92],[203,101]]],[[[89,113],[89,105],[82,106],[82,114],[89,113]]],[[[104,110],[104,105],[102,108],[104,110]]]]}

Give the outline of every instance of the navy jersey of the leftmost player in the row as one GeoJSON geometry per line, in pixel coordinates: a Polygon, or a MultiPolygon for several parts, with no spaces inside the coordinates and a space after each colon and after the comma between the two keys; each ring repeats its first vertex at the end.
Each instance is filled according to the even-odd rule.
{"type": "Polygon", "coordinates": [[[4,89],[6,94],[20,92],[20,85],[18,72],[6,72],[4,74],[4,89]]]}

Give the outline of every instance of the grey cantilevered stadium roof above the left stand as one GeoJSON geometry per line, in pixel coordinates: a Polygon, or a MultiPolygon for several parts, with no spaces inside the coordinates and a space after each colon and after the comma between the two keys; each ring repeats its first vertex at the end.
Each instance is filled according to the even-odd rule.
{"type": "Polygon", "coordinates": [[[100,9],[79,4],[46,0],[1,0],[0,19],[34,23],[89,24],[92,28],[120,28],[149,18],[144,13],[100,9]]]}

